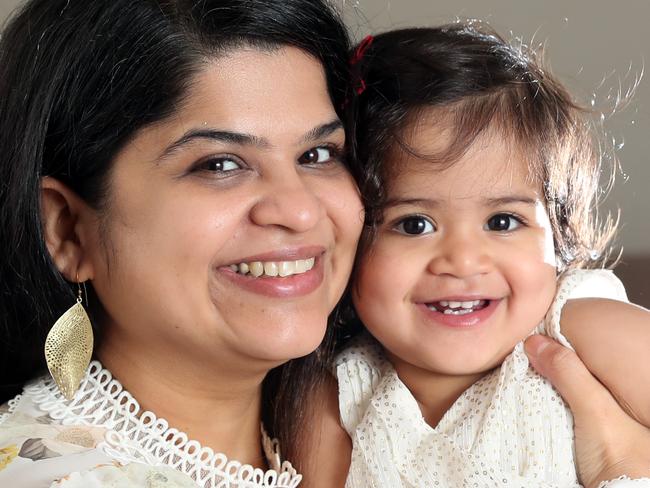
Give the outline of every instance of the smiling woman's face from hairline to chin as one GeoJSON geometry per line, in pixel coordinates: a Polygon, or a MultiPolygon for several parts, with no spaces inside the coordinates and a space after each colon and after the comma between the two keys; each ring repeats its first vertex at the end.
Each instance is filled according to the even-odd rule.
{"type": "Polygon", "coordinates": [[[206,64],[115,159],[90,249],[107,341],[238,367],[314,350],[362,225],[344,143],[304,52],[206,64]]]}

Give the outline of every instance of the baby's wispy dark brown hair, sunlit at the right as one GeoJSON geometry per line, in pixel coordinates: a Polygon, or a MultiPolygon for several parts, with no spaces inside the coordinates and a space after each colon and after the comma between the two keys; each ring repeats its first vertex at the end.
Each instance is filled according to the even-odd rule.
{"type": "Polygon", "coordinates": [[[399,171],[387,167],[387,156],[396,147],[413,154],[402,134],[434,109],[451,129],[451,143],[443,154],[416,155],[445,168],[479,136],[499,131],[519,146],[542,182],[559,269],[606,263],[616,223],[598,215],[606,161],[595,122],[534,51],[513,46],[484,24],[459,22],[380,34],[357,58],[353,169],[370,230],[382,220],[387,178],[399,171]]]}

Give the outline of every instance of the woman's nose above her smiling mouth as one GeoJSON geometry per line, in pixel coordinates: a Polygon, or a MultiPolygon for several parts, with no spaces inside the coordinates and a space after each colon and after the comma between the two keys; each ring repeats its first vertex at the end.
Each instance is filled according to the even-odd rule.
{"type": "Polygon", "coordinates": [[[251,209],[251,220],[260,226],[278,226],[292,232],[315,227],[323,207],[314,188],[297,171],[262,181],[263,197],[251,209]]]}

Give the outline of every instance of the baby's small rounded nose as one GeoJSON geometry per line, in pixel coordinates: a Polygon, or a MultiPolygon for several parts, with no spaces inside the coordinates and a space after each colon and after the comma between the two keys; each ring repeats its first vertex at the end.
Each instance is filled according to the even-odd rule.
{"type": "Polygon", "coordinates": [[[435,275],[469,278],[490,270],[492,258],[480,236],[454,233],[434,244],[428,270],[435,275]]]}

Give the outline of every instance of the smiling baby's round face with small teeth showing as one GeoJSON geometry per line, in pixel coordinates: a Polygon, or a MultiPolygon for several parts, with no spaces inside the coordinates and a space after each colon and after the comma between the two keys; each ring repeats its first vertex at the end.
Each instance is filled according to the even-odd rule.
{"type": "MultiPolygon", "coordinates": [[[[432,154],[445,137],[420,126],[406,142],[432,154]]],[[[394,363],[455,376],[488,371],[555,294],[541,185],[498,135],[481,137],[442,171],[404,151],[390,158],[398,171],[384,222],[353,287],[359,316],[394,363]]]]}

